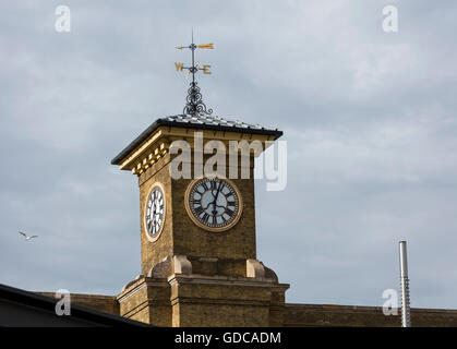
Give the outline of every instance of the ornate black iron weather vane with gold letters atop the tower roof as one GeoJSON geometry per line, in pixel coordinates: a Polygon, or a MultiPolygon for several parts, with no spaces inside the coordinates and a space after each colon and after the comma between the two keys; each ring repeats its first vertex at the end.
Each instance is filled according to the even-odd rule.
{"type": "Polygon", "coordinates": [[[202,100],[202,93],[200,92],[200,87],[197,86],[197,83],[195,81],[195,73],[199,72],[199,70],[203,71],[203,74],[211,74],[211,65],[204,64],[200,65],[197,62],[195,64],[195,50],[197,48],[207,48],[213,49],[213,44],[204,44],[204,45],[195,45],[193,41],[193,31],[192,31],[192,44],[190,46],[178,46],[177,49],[182,50],[184,48],[189,48],[192,51],[192,65],[191,67],[184,67],[184,63],[175,63],[177,71],[184,71],[185,70],[185,77],[189,77],[192,74],[192,82],[191,87],[188,89],[188,97],[187,97],[187,104],[183,109],[183,113],[188,113],[191,116],[195,115],[211,115],[213,113],[213,109],[207,109],[206,106],[202,100]]]}

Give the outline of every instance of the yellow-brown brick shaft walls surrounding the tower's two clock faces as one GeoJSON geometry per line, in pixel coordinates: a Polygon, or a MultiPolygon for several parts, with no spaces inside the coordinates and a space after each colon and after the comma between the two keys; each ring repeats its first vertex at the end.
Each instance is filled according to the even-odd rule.
{"type": "MultiPolygon", "coordinates": [[[[238,224],[224,232],[208,232],[192,222],[184,206],[184,193],[191,180],[172,180],[169,174],[171,157],[160,158],[139,178],[142,274],[160,263],[165,257],[183,254],[188,257],[218,257],[232,260],[255,258],[255,198],[254,180],[236,179],[242,193],[243,213],[238,224]],[[152,242],[144,227],[147,196],[152,186],[159,182],[166,196],[164,228],[159,238],[152,242]]],[[[241,165],[241,160],[240,160],[241,165]]],[[[252,174],[253,160],[249,170],[252,174]]],[[[241,173],[241,167],[238,168],[241,173]]]]}

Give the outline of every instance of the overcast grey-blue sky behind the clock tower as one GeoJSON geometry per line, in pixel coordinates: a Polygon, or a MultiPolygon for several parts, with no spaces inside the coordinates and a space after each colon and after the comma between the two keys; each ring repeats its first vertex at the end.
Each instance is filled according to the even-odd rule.
{"type": "Polygon", "coordinates": [[[117,294],[140,274],[136,177],[110,160],[180,113],[175,49],[214,113],[279,128],[258,260],[288,302],[382,305],[408,241],[411,305],[457,308],[455,0],[0,3],[0,282],[117,294]],[[71,9],[57,33],[57,5],[71,9]],[[382,10],[398,7],[398,33],[382,10]],[[17,230],[39,238],[25,242],[17,230]]]}

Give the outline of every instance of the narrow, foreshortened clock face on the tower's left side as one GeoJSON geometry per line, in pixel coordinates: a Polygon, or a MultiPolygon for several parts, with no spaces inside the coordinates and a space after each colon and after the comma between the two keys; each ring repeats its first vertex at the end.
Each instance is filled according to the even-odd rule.
{"type": "Polygon", "coordinates": [[[146,201],[145,229],[149,240],[155,241],[164,228],[165,220],[165,195],[159,183],[153,185],[146,201]]]}

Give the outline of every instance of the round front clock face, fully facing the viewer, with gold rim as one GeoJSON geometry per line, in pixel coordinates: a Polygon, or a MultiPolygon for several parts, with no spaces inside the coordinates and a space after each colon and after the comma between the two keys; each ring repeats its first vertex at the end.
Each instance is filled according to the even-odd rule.
{"type": "Polygon", "coordinates": [[[185,208],[197,226],[209,231],[224,231],[233,227],[240,219],[241,194],[229,180],[194,180],[185,192],[185,208]]]}

